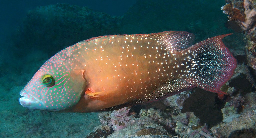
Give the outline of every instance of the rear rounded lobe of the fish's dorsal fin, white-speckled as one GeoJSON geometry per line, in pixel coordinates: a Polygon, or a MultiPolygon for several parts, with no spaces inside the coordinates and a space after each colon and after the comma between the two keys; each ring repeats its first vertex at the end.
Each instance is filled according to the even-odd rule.
{"type": "Polygon", "coordinates": [[[195,35],[185,31],[164,31],[161,33],[148,34],[147,38],[152,38],[168,51],[180,51],[194,45],[195,35]]]}

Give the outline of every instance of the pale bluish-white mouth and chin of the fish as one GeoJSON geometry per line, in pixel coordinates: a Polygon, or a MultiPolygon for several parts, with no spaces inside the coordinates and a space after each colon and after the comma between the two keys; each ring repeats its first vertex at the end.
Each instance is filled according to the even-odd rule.
{"type": "Polygon", "coordinates": [[[25,91],[21,91],[20,95],[23,97],[19,98],[19,103],[25,108],[37,109],[41,103],[38,99],[26,93],[25,91]]]}

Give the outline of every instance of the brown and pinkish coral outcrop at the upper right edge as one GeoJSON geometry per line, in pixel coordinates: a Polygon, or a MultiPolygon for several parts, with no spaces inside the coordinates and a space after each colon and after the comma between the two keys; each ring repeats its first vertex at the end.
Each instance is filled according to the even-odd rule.
{"type": "Polygon", "coordinates": [[[250,67],[256,70],[256,7],[255,1],[233,0],[221,8],[223,13],[228,15],[229,21],[237,22],[244,30],[245,35],[248,38],[246,52],[248,64],[250,67]]]}

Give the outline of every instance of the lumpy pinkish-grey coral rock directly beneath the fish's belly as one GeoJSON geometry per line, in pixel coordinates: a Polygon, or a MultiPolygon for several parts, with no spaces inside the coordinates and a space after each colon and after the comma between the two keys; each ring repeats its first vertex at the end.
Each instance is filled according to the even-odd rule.
{"type": "MultiPolygon", "coordinates": [[[[166,102],[163,100],[162,102],[166,102]]],[[[175,103],[170,102],[170,104],[175,103]]],[[[148,105],[150,106],[150,105],[148,105]]],[[[147,106],[146,106],[147,108],[147,106]]],[[[168,109],[168,108],[167,108],[168,109]]],[[[180,110],[180,109],[177,109],[180,110]]],[[[123,108],[108,113],[99,113],[99,118],[104,125],[126,124],[121,129],[116,129],[115,132],[109,135],[112,137],[214,137],[207,124],[199,124],[199,119],[193,112],[181,113],[177,115],[168,112],[169,110],[159,109],[141,109],[139,115],[132,114],[133,108],[123,108]],[[130,113],[128,113],[130,111],[130,113]],[[120,117],[126,118],[124,121],[120,117]]],[[[115,126],[115,125],[113,125],[115,126]]],[[[114,128],[113,128],[114,129],[114,128]]]]}

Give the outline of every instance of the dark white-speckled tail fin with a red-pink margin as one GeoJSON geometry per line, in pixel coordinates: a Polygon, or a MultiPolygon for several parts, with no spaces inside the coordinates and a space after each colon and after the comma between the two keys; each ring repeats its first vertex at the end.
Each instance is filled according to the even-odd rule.
{"type": "Polygon", "coordinates": [[[231,34],[216,36],[197,43],[187,50],[194,56],[193,72],[187,79],[204,90],[226,94],[220,88],[232,77],[237,61],[222,42],[231,34]]]}

